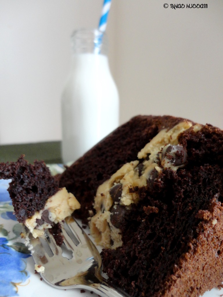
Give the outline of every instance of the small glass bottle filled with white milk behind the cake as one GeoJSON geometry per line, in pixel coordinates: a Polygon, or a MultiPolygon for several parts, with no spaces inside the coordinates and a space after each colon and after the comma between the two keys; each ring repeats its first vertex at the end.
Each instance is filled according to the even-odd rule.
{"type": "Polygon", "coordinates": [[[81,29],[72,37],[72,69],[62,93],[62,160],[75,161],[119,124],[107,37],[81,29]]]}

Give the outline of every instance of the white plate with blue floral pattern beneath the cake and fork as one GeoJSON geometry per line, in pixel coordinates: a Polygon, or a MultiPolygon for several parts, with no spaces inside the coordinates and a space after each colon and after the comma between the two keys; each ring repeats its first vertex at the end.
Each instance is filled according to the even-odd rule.
{"type": "MultiPolygon", "coordinates": [[[[53,174],[61,173],[62,166],[49,165],[53,174]]],[[[13,214],[13,207],[7,191],[10,181],[0,179],[0,297],[21,296],[36,297],[96,297],[90,292],[80,289],[55,289],[41,281],[35,274],[34,261],[29,250],[20,238],[22,226],[13,214]]],[[[213,289],[203,297],[223,296],[223,289],[213,289]]]]}

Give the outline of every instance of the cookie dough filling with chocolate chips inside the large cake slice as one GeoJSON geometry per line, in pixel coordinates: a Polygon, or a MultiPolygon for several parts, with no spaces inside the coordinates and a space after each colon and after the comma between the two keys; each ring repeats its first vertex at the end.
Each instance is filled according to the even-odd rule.
{"type": "MultiPolygon", "coordinates": [[[[112,249],[122,246],[120,226],[131,205],[139,202],[137,192],[142,187],[152,187],[162,170],[176,171],[185,166],[187,151],[178,137],[188,129],[197,132],[201,127],[182,121],[172,129],[161,130],[139,151],[138,160],[123,165],[98,187],[94,205],[96,214],[90,220],[90,231],[97,244],[112,249]]],[[[158,209],[150,211],[158,212],[158,209]]]]}

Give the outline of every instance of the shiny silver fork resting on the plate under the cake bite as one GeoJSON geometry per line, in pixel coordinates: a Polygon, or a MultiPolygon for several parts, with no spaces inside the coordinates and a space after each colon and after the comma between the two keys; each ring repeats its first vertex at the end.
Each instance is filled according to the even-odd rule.
{"type": "Polygon", "coordinates": [[[62,247],[56,245],[47,230],[45,236],[38,238],[29,234],[32,256],[39,267],[45,268],[40,275],[49,285],[59,289],[92,290],[106,297],[129,297],[102,277],[100,253],[72,217],[62,223],[62,234],[62,247]]]}

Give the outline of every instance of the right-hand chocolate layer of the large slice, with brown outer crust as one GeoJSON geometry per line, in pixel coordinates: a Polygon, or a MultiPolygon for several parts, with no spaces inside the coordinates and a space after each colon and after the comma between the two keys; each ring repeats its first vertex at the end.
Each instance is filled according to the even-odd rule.
{"type": "Polygon", "coordinates": [[[179,143],[186,165],[139,189],[122,246],[102,252],[109,280],[131,296],[199,296],[223,281],[223,132],[189,129],[179,143]]]}

